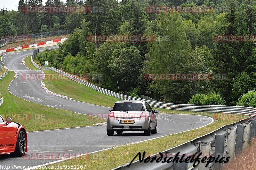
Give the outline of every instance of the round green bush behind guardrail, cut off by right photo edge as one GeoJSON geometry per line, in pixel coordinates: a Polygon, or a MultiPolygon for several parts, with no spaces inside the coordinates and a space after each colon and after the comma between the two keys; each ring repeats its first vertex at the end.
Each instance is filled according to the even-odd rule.
{"type": "Polygon", "coordinates": [[[250,90],[244,93],[237,102],[237,106],[255,107],[256,106],[256,91],[250,90]]]}

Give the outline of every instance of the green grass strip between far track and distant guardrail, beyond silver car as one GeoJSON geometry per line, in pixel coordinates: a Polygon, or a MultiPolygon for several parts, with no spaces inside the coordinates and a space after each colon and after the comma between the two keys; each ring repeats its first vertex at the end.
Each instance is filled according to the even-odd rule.
{"type": "MultiPolygon", "coordinates": [[[[32,70],[35,70],[36,68],[32,64],[30,60],[30,56],[25,58],[25,64],[28,68],[32,70]]],[[[76,81],[73,81],[70,79],[66,80],[66,78],[63,78],[62,75],[54,71],[44,70],[44,73],[46,74],[46,79],[44,79],[45,87],[47,87],[47,89],[51,90],[54,93],[71,97],[72,99],[77,101],[96,104],[100,106],[107,106],[107,107],[113,107],[115,102],[120,100],[113,96],[108,96],[103,93],[100,93],[76,81]],[[55,74],[55,75],[57,74],[57,77],[60,77],[60,79],[47,80],[47,77],[50,77],[47,75],[52,75],[52,74],[55,74]]]]}

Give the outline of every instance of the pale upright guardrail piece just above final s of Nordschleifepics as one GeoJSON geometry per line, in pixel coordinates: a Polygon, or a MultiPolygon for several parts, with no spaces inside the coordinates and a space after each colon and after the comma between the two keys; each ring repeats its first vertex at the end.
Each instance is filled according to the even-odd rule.
{"type": "Polygon", "coordinates": [[[236,148],[236,128],[228,128],[228,139],[227,139],[227,157],[235,157],[236,148]]]}

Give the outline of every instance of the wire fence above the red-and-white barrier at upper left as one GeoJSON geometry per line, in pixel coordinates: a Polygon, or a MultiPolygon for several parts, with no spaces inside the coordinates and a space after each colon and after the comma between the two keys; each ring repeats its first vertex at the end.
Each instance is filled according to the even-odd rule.
{"type": "Polygon", "coordinates": [[[39,38],[46,38],[46,37],[59,36],[59,35],[68,35],[68,30],[40,32],[40,33],[29,34],[29,35],[4,36],[5,38],[0,40],[0,46],[6,44],[7,42],[27,41],[31,39],[39,39],[39,38]]]}

